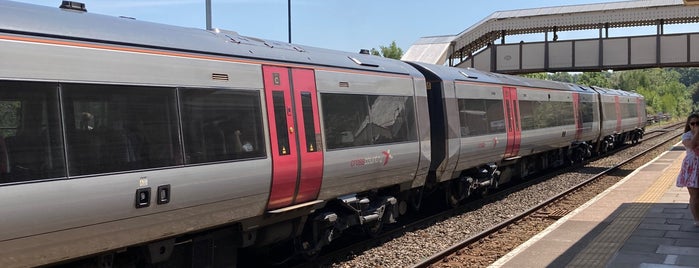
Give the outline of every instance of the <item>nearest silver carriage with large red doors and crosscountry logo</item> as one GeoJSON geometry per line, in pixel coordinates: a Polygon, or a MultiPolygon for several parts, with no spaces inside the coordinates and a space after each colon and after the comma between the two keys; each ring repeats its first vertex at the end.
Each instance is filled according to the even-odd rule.
{"type": "Polygon", "coordinates": [[[376,228],[424,183],[409,65],[77,6],[0,1],[0,266],[376,228]]]}

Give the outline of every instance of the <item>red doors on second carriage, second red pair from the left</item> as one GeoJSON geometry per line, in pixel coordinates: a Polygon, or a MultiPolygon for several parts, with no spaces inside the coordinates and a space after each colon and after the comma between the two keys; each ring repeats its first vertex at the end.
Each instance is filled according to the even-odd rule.
{"type": "Polygon", "coordinates": [[[505,149],[505,158],[515,157],[519,154],[519,147],[522,141],[517,88],[503,87],[502,99],[505,110],[505,125],[507,126],[507,148],[505,149]]]}

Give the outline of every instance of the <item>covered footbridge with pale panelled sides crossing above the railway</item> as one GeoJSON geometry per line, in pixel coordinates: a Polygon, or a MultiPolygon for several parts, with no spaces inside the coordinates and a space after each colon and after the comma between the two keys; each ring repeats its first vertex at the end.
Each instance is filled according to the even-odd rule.
{"type": "Polygon", "coordinates": [[[693,33],[664,33],[665,25],[697,22],[699,0],[499,11],[457,35],[423,37],[402,59],[511,74],[699,66],[699,28],[693,33]],[[641,26],[657,30],[652,35],[609,37],[610,28],[641,26]],[[598,30],[599,36],[558,40],[559,32],[577,30],[598,30]],[[544,41],[505,42],[506,36],[532,33],[544,33],[544,41]]]}

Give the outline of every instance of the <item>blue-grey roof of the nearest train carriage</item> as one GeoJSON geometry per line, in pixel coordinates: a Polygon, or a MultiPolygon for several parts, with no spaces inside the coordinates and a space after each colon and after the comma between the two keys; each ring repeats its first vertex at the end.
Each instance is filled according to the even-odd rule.
{"type": "Polygon", "coordinates": [[[5,0],[0,33],[421,76],[401,61],[373,55],[5,0]]]}

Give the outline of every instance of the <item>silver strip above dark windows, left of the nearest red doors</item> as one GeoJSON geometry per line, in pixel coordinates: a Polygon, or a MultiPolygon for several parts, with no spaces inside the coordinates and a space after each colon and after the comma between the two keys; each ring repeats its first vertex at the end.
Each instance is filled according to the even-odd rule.
{"type": "Polygon", "coordinates": [[[12,51],[0,61],[9,79],[262,88],[257,64],[17,41],[0,41],[0,50],[12,51]],[[235,79],[213,80],[212,73],[235,79]]]}

